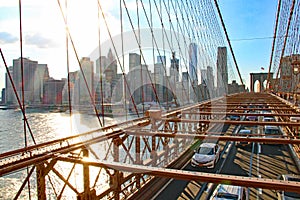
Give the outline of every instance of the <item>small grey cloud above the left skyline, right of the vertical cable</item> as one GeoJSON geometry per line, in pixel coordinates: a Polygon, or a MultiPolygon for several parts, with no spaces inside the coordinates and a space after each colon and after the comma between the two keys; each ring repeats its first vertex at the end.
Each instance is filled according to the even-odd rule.
{"type": "Polygon", "coordinates": [[[57,46],[51,39],[46,38],[38,33],[26,35],[25,42],[27,45],[34,45],[38,48],[51,48],[57,46]]]}

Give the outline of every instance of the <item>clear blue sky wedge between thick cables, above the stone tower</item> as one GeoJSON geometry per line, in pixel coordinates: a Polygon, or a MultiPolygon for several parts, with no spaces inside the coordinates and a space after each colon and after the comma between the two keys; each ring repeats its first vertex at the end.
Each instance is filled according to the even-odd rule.
{"type": "Polygon", "coordinates": [[[242,79],[249,87],[250,73],[268,72],[277,1],[218,2],[242,79]]]}

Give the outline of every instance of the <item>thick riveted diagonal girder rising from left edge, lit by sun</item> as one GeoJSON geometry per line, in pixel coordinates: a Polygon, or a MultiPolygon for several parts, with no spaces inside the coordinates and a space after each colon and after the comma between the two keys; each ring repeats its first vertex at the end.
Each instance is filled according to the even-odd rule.
{"type": "Polygon", "coordinates": [[[5,152],[3,154],[0,154],[0,177],[3,176],[4,174],[20,170],[27,166],[31,166],[51,158],[53,159],[58,154],[65,154],[74,151],[76,149],[83,148],[85,145],[91,145],[113,137],[117,137],[124,133],[122,126],[124,126],[124,128],[129,128],[129,127],[132,128],[136,126],[145,126],[148,125],[149,123],[150,121],[147,118],[134,119],[127,122],[114,124],[112,126],[107,126],[97,130],[89,131],[86,133],[78,134],[75,136],[70,136],[63,139],[58,139],[54,141],[41,143],[38,145],[33,145],[27,148],[21,148],[21,149],[5,152]],[[98,131],[101,131],[102,135],[93,137],[94,135],[92,134],[95,134],[98,131]],[[81,138],[81,137],[88,137],[88,138],[92,137],[92,139],[87,139],[86,141],[80,140],[80,142],[75,142],[75,143],[71,142],[71,140],[76,138],[81,138]],[[63,146],[61,146],[62,142],[67,143],[67,145],[64,144],[63,146]],[[56,147],[55,149],[44,150],[40,152],[40,150],[43,148],[49,148],[50,146],[56,146],[56,145],[60,145],[60,147],[58,148],[56,147]],[[23,156],[24,154],[30,154],[30,156],[24,157],[23,156]],[[9,162],[10,158],[14,158],[15,160],[9,162]]]}

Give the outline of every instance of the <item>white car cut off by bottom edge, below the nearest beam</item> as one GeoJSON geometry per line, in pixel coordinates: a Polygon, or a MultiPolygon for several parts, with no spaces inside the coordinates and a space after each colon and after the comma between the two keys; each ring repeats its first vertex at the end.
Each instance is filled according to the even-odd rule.
{"type": "Polygon", "coordinates": [[[216,200],[216,199],[235,199],[235,200],[242,200],[246,199],[246,192],[245,188],[242,186],[236,186],[236,185],[225,185],[225,184],[219,184],[216,189],[214,190],[212,196],[210,197],[210,200],[216,200]]]}

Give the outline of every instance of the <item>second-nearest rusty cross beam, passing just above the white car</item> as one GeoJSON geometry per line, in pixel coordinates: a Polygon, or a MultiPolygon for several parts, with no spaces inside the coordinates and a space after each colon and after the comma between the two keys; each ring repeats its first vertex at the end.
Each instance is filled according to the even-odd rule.
{"type": "Polygon", "coordinates": [[[154,136],[164,138],[185,138],[185,139],[211,139],[216,141],[245,141],[245,142],[258,142],[268,144],[300,144],[299,137],[290,138],[288,136],[277,135],[277,138],[263,138],[261,137],[245,137],[245,136],[225,136],[225,135],[199,135],[199,134],[178,134],[178,133],[162,133],[162,132],[142,132],[142,131],[125,131],[128,135],[133,136],[154,136]]]}

